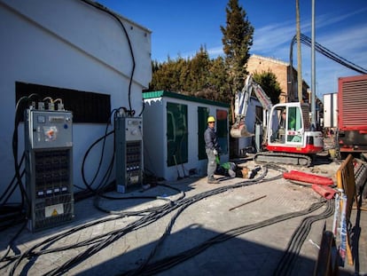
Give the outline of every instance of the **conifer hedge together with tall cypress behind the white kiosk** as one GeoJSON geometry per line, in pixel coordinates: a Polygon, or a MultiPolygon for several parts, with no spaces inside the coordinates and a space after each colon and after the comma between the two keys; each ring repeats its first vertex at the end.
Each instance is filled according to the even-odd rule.
{"type": "Polygon", "coordinates": [[[151,91],[175,91],[189,96],[232,103],[246,78],[246,62],[253,44],[254,28],[246,19],[238,0],[229,0],[227,26],[223,32],[224,57],[209,59],[207,49],[200,46],[191,59],[152,62],[151,91]]]}

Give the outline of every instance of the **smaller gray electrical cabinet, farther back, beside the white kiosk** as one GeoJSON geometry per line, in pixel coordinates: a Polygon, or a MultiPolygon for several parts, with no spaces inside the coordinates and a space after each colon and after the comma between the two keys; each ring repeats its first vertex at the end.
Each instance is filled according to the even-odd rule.
{"type": "Polygon", "coordinates": [[[143,120],[117,116],[114,121],[117,192],[143,183],[143,120]]]}

